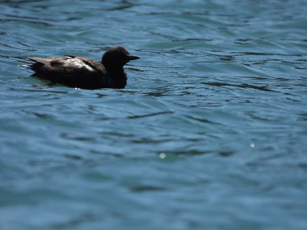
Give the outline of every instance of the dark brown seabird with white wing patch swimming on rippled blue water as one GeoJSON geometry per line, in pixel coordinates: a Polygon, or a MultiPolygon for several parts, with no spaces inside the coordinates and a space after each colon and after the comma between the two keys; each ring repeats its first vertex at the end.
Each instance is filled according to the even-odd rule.
{"type": "Polygon", "coordinates": [[[49,80],[52,84],[59,83],[81,89],[123,89],[127,84],[123,66],[130,60],[140,58],[130,55],[122,46],[107,50],[101,63],[84,57],[64,56],[66,57],[28,57],[35,62],[28,66],[35,71],[31,76],[49,80]]]}

